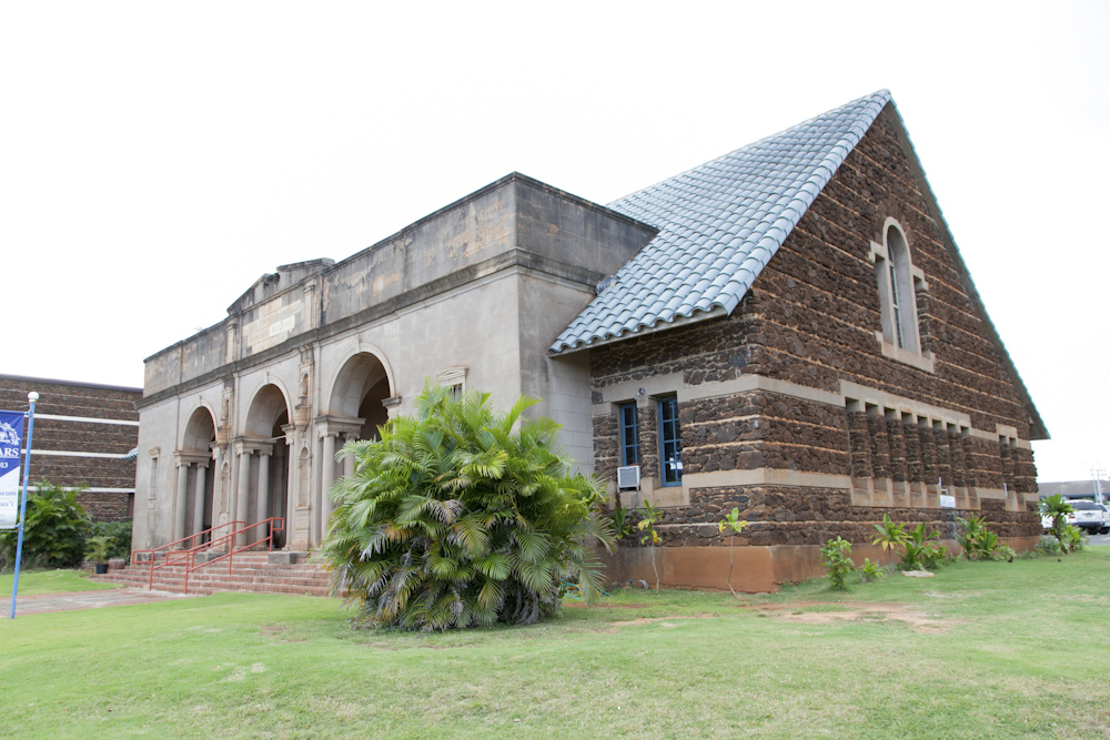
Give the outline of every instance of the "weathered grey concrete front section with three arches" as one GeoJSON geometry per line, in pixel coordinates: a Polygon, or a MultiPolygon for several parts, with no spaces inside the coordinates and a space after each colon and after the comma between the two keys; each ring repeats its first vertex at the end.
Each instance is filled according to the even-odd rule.
{"type": "Polygon", "coordinates": [[[145,361],[134,540],[158,547],[228,521],[286,517],[319,544],[323,495],[425,378],[494,391],[563,425],[593,469],[589,372],[546,354],[595,285],[654,230],[513,174],[339,263],[284,265],[228,318],[145,361]]]}

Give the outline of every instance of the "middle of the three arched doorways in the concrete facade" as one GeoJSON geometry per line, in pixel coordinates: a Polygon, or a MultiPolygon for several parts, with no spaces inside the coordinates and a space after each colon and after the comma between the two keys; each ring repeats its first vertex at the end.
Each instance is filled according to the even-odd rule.
{"type": "MultiPolygon", "coordinates": [[[[286,516],[289,494],[289,404],[285,394],[274,384],[262,386],[251,401],[243,436],[238,440],[239,484],[235,491],[235,516],[248,525],[270,517],[286,516]]],[[[274,533],[274,548],[285,546],[290,523],[284,531],[274,533]]],[[[251,531],[250,541],[269,535],[269,527],[251,531]]]]}

